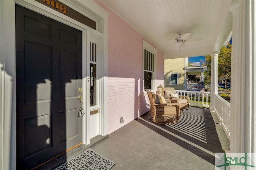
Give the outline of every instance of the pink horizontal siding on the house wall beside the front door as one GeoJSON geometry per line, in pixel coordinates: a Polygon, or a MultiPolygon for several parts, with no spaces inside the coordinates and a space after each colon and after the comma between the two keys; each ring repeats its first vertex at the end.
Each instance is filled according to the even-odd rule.
{"type": "MultiPolygon", "coordinates": [[[[100,2],[97,1],[99,4],[100,2]]],[[[148,97],[142,91],[141,34],[114,12],[108,17],[108,133],[126,125],[149,111],[148,97]],[[120,117],[124,123],[120,124],[120,117]]],[[[147,41],[150,43],[149,41],[147,41]]],[[[154,45],[152,45],[154,46],[154,45]]],[[[157,53],[157,85],[164,85],[163,53],[157,53]]]]}

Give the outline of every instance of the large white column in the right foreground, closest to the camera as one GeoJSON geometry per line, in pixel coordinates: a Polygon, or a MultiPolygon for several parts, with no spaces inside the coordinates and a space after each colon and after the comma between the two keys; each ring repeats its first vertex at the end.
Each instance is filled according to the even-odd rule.
{"type": "Polygon", "coordinates": [[[233,4],[230,152],[256,152],[255,2],[233,4]]]}

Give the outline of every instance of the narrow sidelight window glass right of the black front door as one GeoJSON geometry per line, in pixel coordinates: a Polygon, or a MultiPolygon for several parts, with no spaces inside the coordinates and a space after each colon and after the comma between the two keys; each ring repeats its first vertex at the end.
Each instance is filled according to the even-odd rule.
{"type": "Polygon", "coordinates": [[[90,42],[90,106],[96,103],[96,43],[90,42]]]}

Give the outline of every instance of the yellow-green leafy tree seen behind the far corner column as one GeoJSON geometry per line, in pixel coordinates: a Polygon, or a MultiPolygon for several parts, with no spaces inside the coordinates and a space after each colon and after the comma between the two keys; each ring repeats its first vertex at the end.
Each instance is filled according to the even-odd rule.
{"type": "MultiPolygon", "coordinates": [[[[227,88],[227,81],[230,80],[231,77],[231,51],[232,44],[228,43],[226,47],[222,47],[220,49],[220,53],[218,55],[218,77],[219,81],[224,81],[225,89],[227,88]]],[[[210,55],[205,56],[205,62],[202,65],[207,66],[205,71],[206,74],[206,83],[210,82],[211,77],[211,64],[212,57],[210,55]]]]}

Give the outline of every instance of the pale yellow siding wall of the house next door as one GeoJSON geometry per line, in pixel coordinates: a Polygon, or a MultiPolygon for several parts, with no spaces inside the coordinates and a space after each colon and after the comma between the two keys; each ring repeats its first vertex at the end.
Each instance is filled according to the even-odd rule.
{"type": "Polygon", "coordinates": [[[164,60],[164,87],[174,87],[176,90],[185,89],[185,59],[166,59],[164,60]],[[178,73],[178,85],[170,85],[170,73],[178,73]]]}

